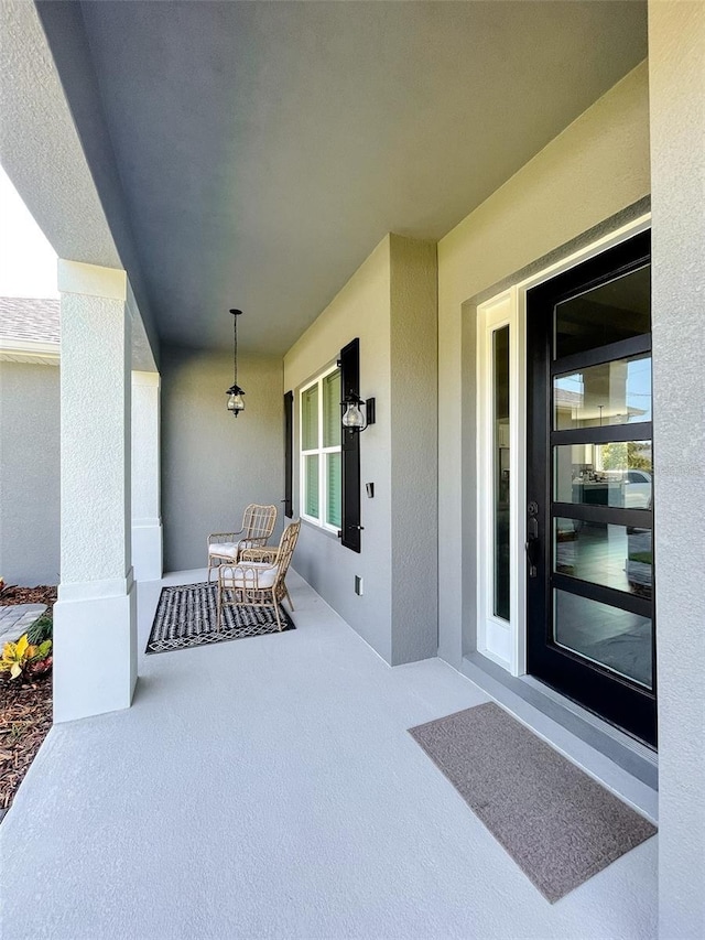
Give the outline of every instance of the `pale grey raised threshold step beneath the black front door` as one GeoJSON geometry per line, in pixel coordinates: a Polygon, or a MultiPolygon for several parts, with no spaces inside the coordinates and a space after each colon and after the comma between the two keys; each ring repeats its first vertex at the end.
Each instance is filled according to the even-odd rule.
{"type": "Polygon", "coordinates": [[[658,822],[655,752],[533,677],[510,676],[479,652],[464,657],[460,671],[588,776],[658,822]]]}

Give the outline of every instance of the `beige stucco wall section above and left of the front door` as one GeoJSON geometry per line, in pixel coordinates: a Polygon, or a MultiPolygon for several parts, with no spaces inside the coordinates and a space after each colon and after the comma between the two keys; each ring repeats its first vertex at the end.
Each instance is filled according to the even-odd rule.
{"type": "Polygon", "coordinates": [[[649,191],[644,62],[438,242],[440,655],[456,667],[475,622],[476,321],[467,302],[649,191]]]}

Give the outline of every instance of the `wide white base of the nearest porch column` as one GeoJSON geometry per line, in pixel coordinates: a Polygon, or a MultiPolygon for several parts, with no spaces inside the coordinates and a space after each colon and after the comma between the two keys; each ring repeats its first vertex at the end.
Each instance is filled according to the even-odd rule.
{"type": "Polygon", "coordinates": [[[129,709],[137,682],[137,590],[121,581],[62,584],[54,605],[54,721],[129,709]]]}

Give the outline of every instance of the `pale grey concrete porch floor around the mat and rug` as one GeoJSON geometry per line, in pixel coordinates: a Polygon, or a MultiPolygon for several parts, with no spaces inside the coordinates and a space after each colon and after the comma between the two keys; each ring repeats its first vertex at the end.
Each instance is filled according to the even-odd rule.
{"type": "Polygon", "coordinates": [[[0,826],[3,937],[655,937],[657,839],[551,906],[406,734],[486,695],[289,583],[296,630],[141,656],[133,707],[51,731],[0,826]]]}

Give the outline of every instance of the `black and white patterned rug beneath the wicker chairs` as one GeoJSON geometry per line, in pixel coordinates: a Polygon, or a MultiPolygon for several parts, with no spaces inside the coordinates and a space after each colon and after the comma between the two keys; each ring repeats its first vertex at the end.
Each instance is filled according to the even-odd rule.
{"type": "MultiPolygon", "coordinates": [[[[162,587],[145,652],[169,652],[279,633],[274,612],[268,607],[224,607],[220,630],[216,630],[216,596],[215,582],[162,587]]],[[[295,629],[281,605],[279,615],[282,631],[295,629]]]]}

